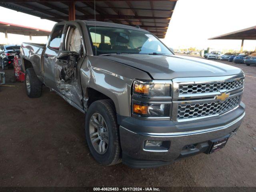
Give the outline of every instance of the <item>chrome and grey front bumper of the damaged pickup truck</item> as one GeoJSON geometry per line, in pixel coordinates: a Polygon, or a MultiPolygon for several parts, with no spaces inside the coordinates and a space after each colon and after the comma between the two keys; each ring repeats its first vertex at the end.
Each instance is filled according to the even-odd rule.
{"type": "Polygon", "coordinates": [[[197,122],[145,121],[124,119],[120,126],[122,162],[133,168],[170,164],[184,157],[208,153],[213,141],[235,133],[244,118],[244,104],[216,118],[197,122]],[[169,141],[166,151],[144,149],[146,140],[169,141]],[[193,149],[187,146],[194,146],[193,149]]]}

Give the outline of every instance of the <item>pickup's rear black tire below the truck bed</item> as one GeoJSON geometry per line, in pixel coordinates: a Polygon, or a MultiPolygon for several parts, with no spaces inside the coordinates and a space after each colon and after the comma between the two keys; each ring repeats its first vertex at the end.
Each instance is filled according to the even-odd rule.
{"type": "Polygon", "coordinates": [[[28,97],[30,98],[38,98],[42,95],[42,82],[37,78],[36,73],[33,68],[26,69],[25,72],[25,88],[28,97]],[[30,90],[28,90],[28,81],[30,83],[30,90]]]}

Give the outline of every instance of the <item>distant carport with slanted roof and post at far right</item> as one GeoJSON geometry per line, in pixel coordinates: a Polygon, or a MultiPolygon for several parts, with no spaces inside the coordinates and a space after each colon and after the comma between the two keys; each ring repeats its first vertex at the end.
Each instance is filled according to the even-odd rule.
{"type": "Polygon", "coordinates": [[[241,50],[240,50],[242,52],[243,46],[244,46],[244,40],[256,40],[256,26],[234,31],[227,34],[223,34],[220,36],[212,37],[212,38],[209,38],[208,40],[214,40],[214,39],[242,40],[241,50]]]}

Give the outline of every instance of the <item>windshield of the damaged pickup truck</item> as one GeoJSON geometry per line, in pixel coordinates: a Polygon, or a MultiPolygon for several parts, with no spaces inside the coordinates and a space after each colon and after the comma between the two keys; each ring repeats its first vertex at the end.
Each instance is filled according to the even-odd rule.
{"type": "Polygon", "coordinates": [[[172,52],[149,32],[125,28],[88,26],[94,55],[166,54],[172,52]]]}

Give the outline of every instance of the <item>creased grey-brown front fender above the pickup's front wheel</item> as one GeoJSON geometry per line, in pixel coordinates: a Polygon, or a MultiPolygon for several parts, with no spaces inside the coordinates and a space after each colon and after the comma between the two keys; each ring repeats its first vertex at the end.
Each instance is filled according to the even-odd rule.
{"type": "Polygon", "coordinates": [[[81,68],[81,86],[87,110],[87,89],[93,88],[113,100],[116,112],[130,116],[130,91],[134,78],[151,79],[148,74],[98,56],[86,56],[81,68]]]}

